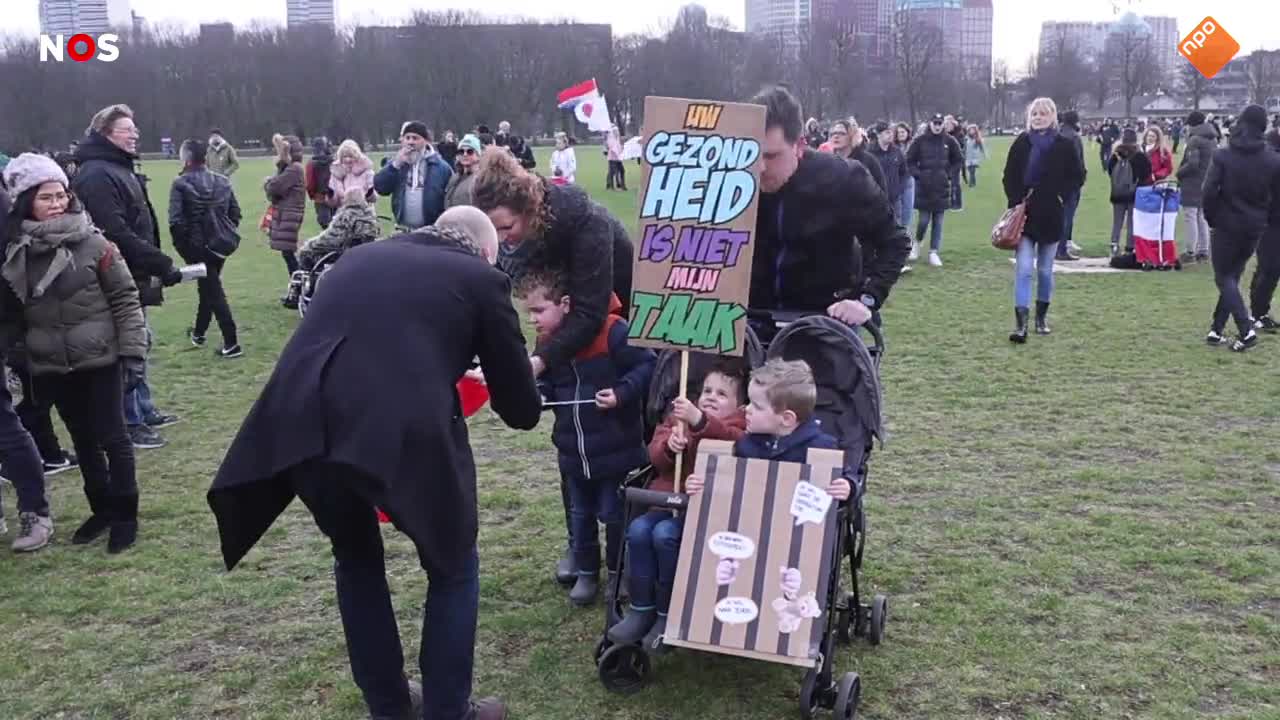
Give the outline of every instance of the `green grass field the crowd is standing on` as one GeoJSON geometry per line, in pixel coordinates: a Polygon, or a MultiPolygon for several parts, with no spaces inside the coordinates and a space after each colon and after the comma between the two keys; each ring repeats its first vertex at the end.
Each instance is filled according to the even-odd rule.
{"type": "MultiPolygon", "coordinates": [[[[1199,265],[1060,275],[1053,336],[1011,346],[1012,270],[987,241],[1007,141],[992,146],[965,211],[947,215],[946,266],[919,264],[884,313],[891,437],[872,459],[865,578],[892,612],[884,644],[837,659],[863,676],[861,716],[1280,719],[1280,338],[1245,355],[1204,347],[1215,292],[1199,265]]],[[[600,156],[579,161],[634,224],[632,195],[603,190],[600,156]]],[[[1076,240],[1100,255],[1111,211],[1089,165],[1076,240]]],[[[147,164],[157,205],[177,169],[147,164]]],[[[236,177],[246,225],[270,170],[252,160],[236,177]]],[[[310,210],[307,223],[317,231],[310,210]]],[[[50,487],[55,544],[0,557],[0,719],[365,716],[328,544],[301,503],[229,574],[205,505],[297,323],[278,302],[283,261],[246,234],[225,272],[243,359],[188,347],[195,287],[152,314],[152,387],[183,423],[140,455],[137,548],[69,544],[87,506],[67,474],[50,487]]],[[[548,427],[517,433],[488,411],[471,427],[477,692],[526,720],[795,716],[801,673],[704,653],[660,660],[640,696],[607,694],[591,664],[602,614],[571,609],[550,580],[563,527],[548,427]]],[[[387,539],[416,657],[426,580],[411,544],[387,539]]]]}

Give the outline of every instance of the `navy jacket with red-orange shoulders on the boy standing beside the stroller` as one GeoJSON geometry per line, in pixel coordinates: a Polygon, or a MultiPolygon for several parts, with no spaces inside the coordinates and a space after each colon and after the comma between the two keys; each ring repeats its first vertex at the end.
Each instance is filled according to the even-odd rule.
{"type": "Polygon", "coordinates": [[[614,316],[586,350],[543,375],[543,396],[552,402],[593,400],[609,388],[618,396],[612,410],[594,402],[554,407],[552,442],[566,477],[621,479],[648,462],[643,405],[657,356],[627,345],[627,323],[614,316]]]}

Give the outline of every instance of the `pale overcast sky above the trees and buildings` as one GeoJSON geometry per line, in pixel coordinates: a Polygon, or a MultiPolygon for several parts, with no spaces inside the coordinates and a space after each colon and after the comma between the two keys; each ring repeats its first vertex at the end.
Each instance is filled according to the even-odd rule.
{"type": "MultiPolygon", "coordinates": [[[[195,26],[202,22],[232,20],[237,24],[253,19],[283,23],[285,0],[131,0],[133,9],[148,22],[172,22],[195,26]]],[[[584,22],[612,23],[614,33],[654,29],[659,22],[676,14],[687,0],[641,0],[608,3],[604,0],[489,0],[485,13],[529,15],[552,19],[573,18],[584,22]],[[536,9],[534,9],[536,8],[536,9]]],[[[0,28],[12,32],[38,32],[38,0],[0,0],[5,12],[0,28]]],[[[408,15],[415,9],[461,8],[457,0],[337,0],[342,23],[375,24],[408,15]]],[[[703,0],[713,15],[722,15],[742,27],[745,0],[703,0]]],[[[1034,3],[1032,0],[993,0],[995,53],[1010,67],[1019,69],[1038,47],[1039,26],[1044,20],[1105,20],[1115,17],[1115,8],[1132,6],[1138,13],[1174,15],[1179,32],[1185,35],[1197,26],[1206,12],[1230,32],[1248,53],[1260,47],[1280,47],[1280,4],[1274,0],[1071,0],[1070,3],[1034,3]]]]}

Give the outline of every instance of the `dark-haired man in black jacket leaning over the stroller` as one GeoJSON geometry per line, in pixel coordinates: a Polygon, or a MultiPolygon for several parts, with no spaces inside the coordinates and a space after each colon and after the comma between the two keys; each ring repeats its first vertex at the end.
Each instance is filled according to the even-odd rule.
{"type": "Polygon", "coordinates": [[[897,281],[906,231],[867,168],[805,146],[800,102],[786,88],[753,102],[767,117],[750,305],[861,325],[897,281]]]}

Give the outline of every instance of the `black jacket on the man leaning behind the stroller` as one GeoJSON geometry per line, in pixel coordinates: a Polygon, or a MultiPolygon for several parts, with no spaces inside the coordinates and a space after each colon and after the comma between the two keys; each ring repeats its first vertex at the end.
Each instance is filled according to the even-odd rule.
{"type": "Polygon", "coordinates": [[[884,305],[911,250],[861,163],[805,151],[755,217],[750,306],[824,311],[863,293],[884,305]]]}

